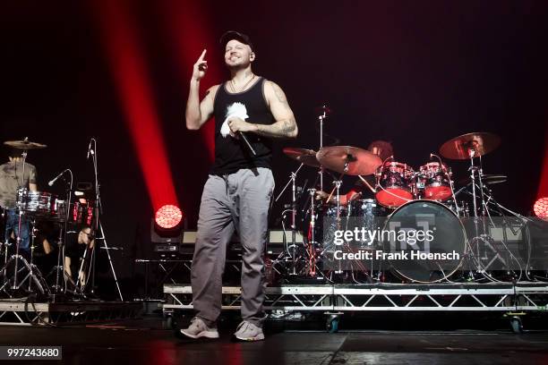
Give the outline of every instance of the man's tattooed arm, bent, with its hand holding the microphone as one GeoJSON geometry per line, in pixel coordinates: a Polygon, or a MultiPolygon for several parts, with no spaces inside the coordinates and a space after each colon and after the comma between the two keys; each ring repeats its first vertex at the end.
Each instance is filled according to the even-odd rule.
{"type": "Polygon", "coordinates": [[[270,138],[295,138],[298,128],[293,111],[287,104],[286,94],[274,82],[264,84],[264,97],[270,106],[270,112],[276,120],[272,124],[252,124],[251,132],[270,138]]]}

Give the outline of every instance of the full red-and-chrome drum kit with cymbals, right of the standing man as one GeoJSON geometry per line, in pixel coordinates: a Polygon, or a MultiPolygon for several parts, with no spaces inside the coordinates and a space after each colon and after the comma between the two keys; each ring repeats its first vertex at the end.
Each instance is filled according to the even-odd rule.
{"type": "MultiPolygon", "coordinates": [[[[290,184],[293,185],[292,205],[287,211],[291,212],[290,227],[294,238],[299,214],[295,197],[298,190],[296,174],[303,166],[311,166],[318,169],[321,178],[326,169],[340,175],[333,179],[330,194],[317,191],[316,183],[307,191],[309,198],[302,218],[304,243],[299,246],[295,240],[287,242],[285,253],[275,262],[281,263],[289,277],[308,276],[330,282],[349,279],[357,283],[357,278],[362,277],[365,282],[373,283],[385,281],[390,276],[396,281],[412,283],[519,280],[522,269],[527,271],[526,259],[519,258],[518,251],[509,248],[507,239],[495,242],[490,235],[498,228],[492,216],[506,219],[503,221],[505,226],[508,218],[504,218],[503,213],[517,217],[519,232],[525,232],[525,225],[531,223],[531,219],[502,207],[492,196],[489,186],[503,183],[506,176],[484,174],[482,157],[497,149],[500,143],[500,138],[492,133],[475,132],[441,145],[441,157],[470,164],[470,175],[459,181],[464,186],[458,191],[450,166],[433,153],[430,161],[415,170],[393,157],[381,160],[371,151],[350,146],[321,147],[317,152],[284,149],[287,157],[301,163],[276,199],[290,184]],[[344,175],[357,176],[373,191],[374,199],[347,201],[344,195],[341,199],[339,191],[344,175]],[[374,186],[368,183],[372,181],[374,186]],[[318,198],[321,201],[317,201],[318,198]],[[431,229],[432,240],[402,242],[399,238],[381,236],[383,232],[416,233],[422,227],[431,229]],[[374,240],[352,238],[352,233],[367,231],[377,231],[378,235],[374,240]],[[347,240],[341,240],[343,233],[348,233],[347,240]],[[376,251],[384,252],[386,256],[371,259],[376,251]],[[404,258],[413,257],[409,255],[415,255],[415,251],[421,251],[415,259],[393,255],[399,252],[404,258]],[[492,252],[492,257],[485,257],[487,251],[492,252]],[[341,262],[334,255],[357,259],[341,262]],[[502,263],[498,268],[492,265],[495,259],[502,263]]],[[[283,216],[287,216],[287,211],[283,216]]],[[[526,276],[529,278],[527,272],[523,277],[526,276]]]]}

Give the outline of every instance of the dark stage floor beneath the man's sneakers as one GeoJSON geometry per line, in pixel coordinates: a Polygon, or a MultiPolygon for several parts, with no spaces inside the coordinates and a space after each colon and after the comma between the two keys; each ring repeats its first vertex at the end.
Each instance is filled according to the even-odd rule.
{"type": "MultiPolygon", "coordinates": [[[[522,335],[474,330],[274,330],[259,343],[235,343],[232,324],[218,340],[176,338],[161,318],[88,327],[3,327],[1,345],[61,345],[64,364],[541,364],[548,331],[522,335]]],[[[235,324],[234,324],[235,327],[235,324]]],[[[402,326],[405,327],[405,326],[402,326]]],[[[414,327],[410,323],[409,327],[414,327]]],[[[24,361],[13,361],[23,363],[24,361]]],[[[2,361],[8,363],[8,361],[2,361]]]]}

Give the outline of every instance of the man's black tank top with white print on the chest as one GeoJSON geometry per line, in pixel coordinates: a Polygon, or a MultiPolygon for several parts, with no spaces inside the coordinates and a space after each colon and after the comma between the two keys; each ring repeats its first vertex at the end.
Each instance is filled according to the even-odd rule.
{"type": "Polygon", "coordinates": [[[261,137],[253,132],[244,132],[245,137],[257,153],[253,153],[245,145],[244,140],[236,140],[231,136],[223,137],[221,126],[227,118],[227,109],[232,104],[244,104],[248,118],[246,122],[256,124],[274,123],[274,116],[264,98],[265,79],[259,78],[250,89],[239,93],[228,93],[227,82],[218,87],[213,113],[215,115],[215,163],[211,174],[233,174],[242,168],[267,167],[270,168],[272,159],[272,140],[261,137]]]}

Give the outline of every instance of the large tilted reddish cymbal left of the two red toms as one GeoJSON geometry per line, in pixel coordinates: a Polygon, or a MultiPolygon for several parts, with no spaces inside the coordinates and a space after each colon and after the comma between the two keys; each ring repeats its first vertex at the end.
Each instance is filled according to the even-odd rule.
{"type": "Polygon", "coordinates": [[[374,174],[382,165],[381,157],[365,149],[351,146],[332,146],[320,149],[316,154],[322,166],[349,175],[374,174]],[[347,171],[345,172],[345,166],[347,171]]]}

